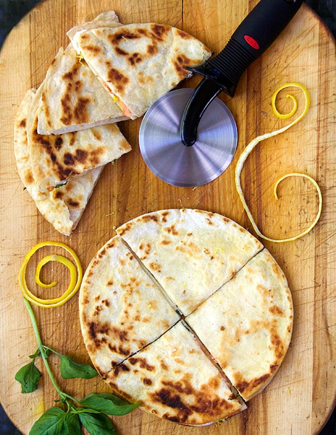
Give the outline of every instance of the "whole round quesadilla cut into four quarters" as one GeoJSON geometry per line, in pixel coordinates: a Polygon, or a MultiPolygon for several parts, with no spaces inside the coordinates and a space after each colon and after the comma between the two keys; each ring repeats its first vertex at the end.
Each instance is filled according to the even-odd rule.
{"type": "Polygon", "coordinates": [[[245,409],[292,334],[291,292],[273,257],[231,219],[201,210],[153,212],[116,231],[80,291],[85,346],[102,378],[180,424],[245,409]]]}

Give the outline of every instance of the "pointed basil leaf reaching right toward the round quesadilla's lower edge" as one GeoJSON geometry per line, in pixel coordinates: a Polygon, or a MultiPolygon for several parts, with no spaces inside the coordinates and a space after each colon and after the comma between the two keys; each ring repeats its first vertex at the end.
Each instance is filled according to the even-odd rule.
{"type": "Polygon", "coordinates": [[[108,415],[125,415],[141,405],[130,404],[111,393],[92,393],[80,401],[81,405],[108,415]]]}

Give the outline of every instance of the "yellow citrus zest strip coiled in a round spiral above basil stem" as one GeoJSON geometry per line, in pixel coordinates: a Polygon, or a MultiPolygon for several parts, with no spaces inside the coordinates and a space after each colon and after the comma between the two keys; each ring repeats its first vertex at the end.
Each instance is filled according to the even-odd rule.
{"type": "Polygon", "coordinates": [[[35,305],[38,305],[39,307],[52,308],[52,307],[58,307],[60,305],[63,305],[65,302],[67,302],[70,298],[74,296],[74,294],[78,291],[81,285],[82,277],[83,277],[83,271],[82,271],[80,260],[76,255],[76,253],[71,248],[69,248],[69,246],[61,242],[50,242],[50,241],[41,242],[35,245],[26,255],[19,271],[19,285],[21,287],[24,297],[28,299],[30,302],[32,302],[35,305]],[[27,269],[28,262],[31,259],[31,257],[35,254],[35,252],[38,251],[43,246],[57,246],[65,249],[72,256],[76,264],[74,265],[74,263],[70,261],[68,258],[57,254],[47,255],[43,257],[42,260],[39,262],[35,273],[35,280],[39,286],[44,288],[53,287],[54,285],[57,284],[57,281],[53,281],[49,284],[45,284],[44,282],[41,281],[40,274],[41,274],[42,267],[45,264],[49,263],[50,261],[58,261],[62,263],[64,266],[66,266],[70,271],[70,283],[68,285],[67,290],[60,297],[54,299],[42,299],[37,297],[29,290],[26,281],[26,269],[27,269]]]}

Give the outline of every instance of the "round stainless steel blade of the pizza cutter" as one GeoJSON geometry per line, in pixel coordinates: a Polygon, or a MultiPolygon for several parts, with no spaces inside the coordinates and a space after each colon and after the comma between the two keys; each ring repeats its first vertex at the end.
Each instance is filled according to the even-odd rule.
{"type": "Polygon", "coordinates": [[[139,131],[147,166],[166,183],[182,187],[201,186],[222,174],[238,141],[232,113],[216,98],[202,116],[195,144],[181,142],[181,116],[192,91],[177,89],[161,97],[144,115],[139,131]]]}

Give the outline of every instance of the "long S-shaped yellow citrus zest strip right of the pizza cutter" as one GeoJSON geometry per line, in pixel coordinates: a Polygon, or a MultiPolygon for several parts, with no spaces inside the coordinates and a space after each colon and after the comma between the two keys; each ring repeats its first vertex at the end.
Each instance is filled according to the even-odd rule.
{"type": "MultiPolygon", "coordinates": [[[[276,185],[275,185],[275,188],[274,188],[274,189],[275,189],[274,192],[275,192],[275,197],[276,197],[276,199],[277,199],[276,189],[277,189],[277,186],[278,186],[278,184],[280,183],[280,181],[282,181],[284,178],[289,177],[289,176],[291,176],[291,175],[294,175],[294,176],[302,176],[302,177],[308,178],[308,179],[309,179],[309,180],[314,184],[314,186],[316,187],[316,189],[317,189],[317,191],[318,191],[318,195],[319,195],[319,209],[318,209],[318,213],[317,213],[316,218],[314,219],[313,223],[309,226],[309,228],[307,228],[306,230],[304,230],[302,233],[300,233],[300,234],[298,234],[298,235],[296,235],[296,236],[294,236],[294,237],[290,237],[290,238],[286,238],[286,239],[272,239],[272,238],[270,238],[270,237],[266,237],[265,235],[263,235],[263,234],[260,232],[259,228],[257,227],[257,224],[255,223],[255,221],[254,221],[254,219],[253,219],[253,217],[252,217],[252,214],[251,214],[251,212],[250,212],[250,210],[249,210],[249,207],[248,207],[248,205],[247,205],[247,203],[246,203],[246,200],[245,200],[245,197],[244,197],[244,193],[243,193],[243,189],[242,189],[242,184],[241,184],[241,179],[240,179],[240,177],[241,177],[241,173],[242,173],[242,170],[243,170],[243,165],[244,165],[245,161],[247,160],[248,156],[252,153],[253,149],[256,147],[256,145],[257,145],[259,142],[261,142],[261,141],[263,141],[263,140],[265,140],[265,139],[268,139],[268,138],[270,138],[270,137],[276,136],[276,135],[278,135],[278,134],[280,134],[280,133],[283,133],[284,131],[286,131],[286,130],[288,130],[289,128],[291,128],[294,124],[296,124],[297,122],[299,122],[299,121],[300,121],[300,120],[301,120],[301,119],[306,115],[306,113],[307,113],[307,111],[308,111],[308,109],[309,109],[309,106],[310,106],[310,96],[309,96],[309,93],[308,93],[307,89],[306,89],[304,86],[302,86],[302,85],[300,85],[299,83],[296,83],[296,82],[294,82],[294,83],[286,83],[285,85],[282,85],[279,89],[277,89],[277,91],[273,94],[273,97],[272,97],[272,107],[273,107],[273,111],[275,112],[275,114],[276,114],[277,116],[280,115],[279,117],[283,117],[283,116],[287,117],[287,115],[281,115],[281,113],[279,113],[278,110],[275,109],[275,100],[276,100],[276,96],[277,96],[277,94],[278,94],[282,89],[284,89],[284,88],[286,88],[286,87],[289,87],[289,86],[297,87],[297,88],[299,88],[299,89],[301,89],[301,90],[303,91],[304,98],[305,98],[305,106],[304,106],[304,109],[303,109],[302,113],[301,113],[299,116],[297,116],[297,117],[294,119],[294,121],[292,121],[290,124],[288,124],[288,125],[286,125],[286,126],[280,128],[280,129],[278,129],[278,130],[272,131],[272,132],[270,132],[270,133],[265,133],[265,134],[263,134],[263,135],[260,135],[260,136],[257,136],[256,138],[254,138],[254,139],[253,139],[253,140],[252,140],[252,141],[247,145],[247,147],[245,148],[245,150],[243,151],[243,153],[240,155],[240,157],[239,157],[239,159],[238,159],[238,162],[237,162],[237,165],[236,165],[236,169],[235,169],[235,183],[236,183],[236,189],[237,189],[237,192],[238,192],[239,198],[240,198],[240,200],[241,200],[241,202],[242,202],[242,205],[243,205],[243,207],[244,207],[244,210],[246,211],[247,216],[248,216],[248,218],[249,218],[249,220],[250,220],[250,222],[251,222],[251,224],[252,224],[252,227],[253,227],[254,231],[255,231],[256,234],[257,234],[259,237],[261,237],[262,239],[267,240],[267,241],[269,241],[269,242],[275,242],[275,243],[294,241],[294,240],[298,239],[299,237],[302,237],[302,236],[304,236],[305,234],[307,234],[307,233],[308,233],[308,232],[309,232],[309,231],[310,231],[310,230],[311,230],[311,229],[316,225],[317,221],[318,221],[319,218],[320,218],[321,211],[322,211],[322,194],[321,194],[321,190],[320,190],[320,188],[319,188],[317,182],[316,182],[313,178],[311,178],[311,177],[309,177],[308,175],[305,175],[305,174],[297,174],[297,173],[295,173],[295,175],[294,175],[294,173],[284,175],[283,177],[281,177],[281,178],[276,182],[276,185]]],[[[294,103],[294,108],[295,108],[295,110],[292,109],[291,113],[292,113],[292,112],[295,113],[295,111],[296,111],[296,106],[297,106],[296,99],[295,99],[293,96],[291,96],[291,98],[292,98],[292,100],[295,102],[295,103],[294,103]]]]}

